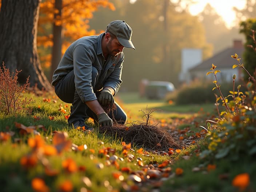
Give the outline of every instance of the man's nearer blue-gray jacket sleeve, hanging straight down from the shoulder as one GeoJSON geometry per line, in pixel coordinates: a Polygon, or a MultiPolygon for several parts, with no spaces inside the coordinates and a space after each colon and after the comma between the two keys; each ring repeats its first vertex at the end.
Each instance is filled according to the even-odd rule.
{"type": "Polygon", "coordinates": [[[73,65],[75,74],[76,91],[83,102],[96,100],[92,88],[92,63],[93,54],[80,44],[73,51],[73,65]]]}

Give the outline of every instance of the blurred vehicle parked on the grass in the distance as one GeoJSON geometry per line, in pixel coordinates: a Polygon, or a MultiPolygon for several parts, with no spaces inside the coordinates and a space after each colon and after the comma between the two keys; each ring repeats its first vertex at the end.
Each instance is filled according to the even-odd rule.
{"type": "Polygon", "coordinates": [[[148,99],[164,99],[167,93],[175,90],[174,85],[168,81],[149,81],[145,87],[145,96],[148,99]]]}

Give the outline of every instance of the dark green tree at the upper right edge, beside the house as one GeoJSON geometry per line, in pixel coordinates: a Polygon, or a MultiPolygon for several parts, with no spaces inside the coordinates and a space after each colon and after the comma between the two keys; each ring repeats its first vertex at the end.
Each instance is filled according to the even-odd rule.
{"type": "MultiPolygon", "coordinates": [[[[251,47],[248,47],[247,45],[253,45],[253,47],[255,47],[255,43],[253,42],[253,38],[252,38],[251,29],[256,31],[256,19],[247,19],[246,21],[241,22],[240,26],[241,26],[240,32],[245,35],[246,43],[245,43],[245,52],[243,56],[240,55],[239,58],[243,59],[245,69],[247,69],[247,71],[252,76],[255,77],[256,76],[256,54],[255,54],[255,50],[253,50],[251,47]]],[[[248,73],[244,71],[244,79],[247,81],[248,78],[249,78],[248,73]]]]}

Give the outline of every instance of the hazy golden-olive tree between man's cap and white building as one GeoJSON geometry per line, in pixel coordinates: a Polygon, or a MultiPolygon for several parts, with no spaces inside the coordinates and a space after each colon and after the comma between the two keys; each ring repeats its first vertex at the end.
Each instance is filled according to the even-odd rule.
{"type": "Polygon", "coordinates": [[[196,16],[185,11],[177,12],[177,5],[171,1],[166,16],[163,0],[137,0],[133,4],[129,0],[111,2],[115,4],[116,11],[104,9],[95,12],[90,25],[100,30],[109,21],[121,19],[133,29],[132,41],[136,50],[124,49],[123,84],[120,91],[137,91],[141,79],[171,81],[179,85],[182,48],[202,48],[205,57],[211,56],[211,46],[206,43],[203,25],[196,16]],[[166,59],[164,46],[167,48],[166,59]]]}

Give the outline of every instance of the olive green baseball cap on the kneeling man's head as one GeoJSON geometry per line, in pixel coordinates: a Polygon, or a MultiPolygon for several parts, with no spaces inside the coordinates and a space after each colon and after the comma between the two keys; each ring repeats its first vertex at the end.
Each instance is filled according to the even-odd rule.
{"type": "Polygon", "coordinates": [[[132,28],[125,21],[115,20],[107,25],[107,30],[116,36],[121,45],[128,48],[133,48],[132,43],[132,28]]]}

